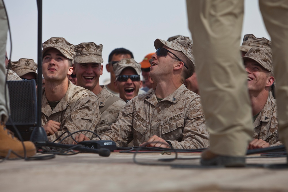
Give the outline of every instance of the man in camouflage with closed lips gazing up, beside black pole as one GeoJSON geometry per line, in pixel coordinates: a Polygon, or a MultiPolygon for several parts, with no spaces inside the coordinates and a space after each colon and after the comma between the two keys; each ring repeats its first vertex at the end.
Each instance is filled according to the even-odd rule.
{"type": "MultiPolygon", "coordinates": [[[[64,38],[52,37],[44,42],[42,46],[42,66],[43,77],[45,78],[45,89],[43,88],[42,94],[41,123],[48,134],[49,141],[54,141],[65,131],[72,133],[79,130],[90,130],[93,132],[101,118],[98,99],[91,91],[73,85],[73,83],[71,83],[67,77],[67,75],[70,75],[73,71],[72,61],[76,54],[74,45],[68,43],[64,38]],[[68,66],[69,69],[65,68],[65,66],[68,65],[65,58],[71,62],[70,66],[68,66]],[[63,60],[65,62],[61,62],[63,60]],[[52,67],[55,70],[53,70],[52,67]],[[64,73],[64,71],[68,71],[67,75],[64,73]],[[59,80],[58,78],[61,79],[59,80]],[[49,90],[53,91],[55,84],[58,82],[57,80],[61,81],[57,86],[64,84],[67,86],[67,91],[60,101],[56,100],[56,106],[54,107],[53,102],[50,101],[49,104],[46,96],[47,94],[50,94],[47,89],[49,88],[49,90]],[[54,125],[57,126],[57,131],[53,131],[54,134],[51,134],[50,132],[53,130],[52,128],[50,128],[51,130],[46,128],[46,125],[50,122],[50,120],[52,120],[54,125]]],[[[58,94],[58,92],[56,92],[56,94],[58,94]]],[[[56,96],[57,95],[54,97],[56,96]]],[[[92,137],[92,133],[90,132],[82,133],[86,134],[86,136],[89,138],[92,137]]],[[[76,135],[77,134],[73,136],[76,135]]],[[[64,138],[65,136],[67,136],[67,133],[61,136],[60,139],[64,138]]],[[[71,137],[68,137],[63,140],[62,143],[72,144],[73,140],[71,137]]]]}

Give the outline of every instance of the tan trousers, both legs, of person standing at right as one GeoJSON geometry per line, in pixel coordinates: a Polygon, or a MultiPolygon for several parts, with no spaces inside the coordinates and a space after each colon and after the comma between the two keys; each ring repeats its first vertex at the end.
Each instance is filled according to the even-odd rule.
{"type": "MultiPolygon", "coordinates": [[[[253,132],[247,73],[239,54],[244,1],[186,2],[202,105],[211,133],[210,150],[220,155],[244,156],[253,132]]],[[[259,5],[272,40],[276,98],[281,103],[279,134],[285,142],[285,138],[288,140],[288,3],[261,0],[259,5]]],[[[285,145],[288,147],[288,142],[285,145]]]]}

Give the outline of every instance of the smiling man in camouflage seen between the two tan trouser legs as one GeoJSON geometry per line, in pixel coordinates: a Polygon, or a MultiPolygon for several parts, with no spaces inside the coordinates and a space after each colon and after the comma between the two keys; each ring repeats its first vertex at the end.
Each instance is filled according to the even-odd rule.
{"type": "Polygon", "coordinates": [[[242,57],[248,73],[248,90],[255,119],[254,140],[249,143],[250,149],[283,145],[278,138],[276,100],[268,97],[274,82],[270,51],[269,48],[254,47],[247,52],[245,57],[242,57]],[[261,108],[261,106],[264,107],[261,108]]]}

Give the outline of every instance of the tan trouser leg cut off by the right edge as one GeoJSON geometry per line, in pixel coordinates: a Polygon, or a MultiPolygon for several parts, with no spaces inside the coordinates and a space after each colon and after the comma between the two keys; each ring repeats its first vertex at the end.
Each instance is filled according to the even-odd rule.
{"type": "Polygon", "coordinates": [[[259,0],[259,7],[272,42],[279,137],[288,149],[288,1],[259,0]]]}

